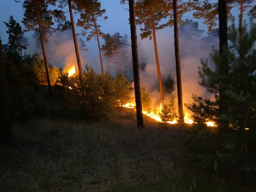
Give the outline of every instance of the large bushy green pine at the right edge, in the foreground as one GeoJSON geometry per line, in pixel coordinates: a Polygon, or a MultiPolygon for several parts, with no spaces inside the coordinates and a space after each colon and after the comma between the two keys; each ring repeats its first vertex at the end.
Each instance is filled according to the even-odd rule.
{"type": "Polygon", "coordinates": [[[204,145],[216,145],[214,153],[207,156],[208,159],[217,156],[218,162],[223,166],[222,169],[235,168],[237,172],[244,175],[244,178],[247,178],[243,180],[244,183],[249,182],[249,174],[254,172],[255,154],[251,151],[255,150],[255,145],[248,138],[255,138],[256,126],[256,25],[251,22],[251,29],[248,31],[246,29],[245,24],[242,29],[243,43],[240,45],[239,31],[234,24],[229,28],[230,46],[229,50],[224,50],[229,61],[227,75],[220,74],[223,58],[219,57],[217,50],[214,50],[211,55],[215,70],[212,70],[207,61],[201,60],[200,85],[214,94],[215,101],[193,95],[194,103],[187,105],[194,112],[198,126],[202,126],[208,119],[217,122],[224,119],[229,122],[228,134],[215,135],[214,139],[218,138],[219,141],[213,142],[214,139],[210,139],[210,135],[205,135],[205,131],[198,132],[198,139],[204,145]],[[221,102],[218,97],[219,87],[225,88],[223,93],[225,101],[222,103],[225,102],[228,108],[227,114],[219,111],[218,106],[221,102]]]}

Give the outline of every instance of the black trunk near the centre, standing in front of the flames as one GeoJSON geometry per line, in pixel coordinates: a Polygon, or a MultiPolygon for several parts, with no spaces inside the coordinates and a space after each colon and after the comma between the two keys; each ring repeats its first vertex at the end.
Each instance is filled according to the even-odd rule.
{"type": "Polygon", "coordinates": [[[133,67],[134,91],[135,91],[135,102],[136,102],[137,128],[144,128],[143,116],[142,116],[142,105],[141,105],[140,65],[139,65],[139,57],[138,57],[134,0],[129,0],[129,14],[130,14],[130,28],[131,28],[132,67],[133,67]]]}

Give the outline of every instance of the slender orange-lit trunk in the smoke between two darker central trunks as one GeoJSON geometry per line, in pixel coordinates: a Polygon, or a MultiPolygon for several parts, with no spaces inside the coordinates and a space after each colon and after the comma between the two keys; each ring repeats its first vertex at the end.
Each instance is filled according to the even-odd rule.
{"type": "Polygon", "coordinates": [[[155,20],[154,20],[153,14],[151,14],[151,22],[152,22],[154,49],[155,49],[155,57],[156,57],[156,69],[157,69],[159,90],[160,90],[160,99],[161,99],[161,106],[163,106],[163,103],[164,103],[164,101],[163,101],[163,84],[162,84],[162,77],[161,77],[161,72],[160,72],[158,50],[157,50],[157,43],[156,43],[156,28],[155,28],[155,20]]]}

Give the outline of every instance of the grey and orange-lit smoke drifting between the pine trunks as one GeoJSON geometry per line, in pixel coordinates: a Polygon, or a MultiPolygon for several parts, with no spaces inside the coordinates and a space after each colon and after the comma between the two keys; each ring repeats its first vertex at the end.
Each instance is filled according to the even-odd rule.
{"type": "MultiPolygon", "coordinates": [[[[208,98],[210,95],[206,90],[198,85],[198,66],[200,65],[200,58],[209,58],[212,52],[212,46],[218,46],[218,33],[210,32],[203,33],[202,30],[197,29],[196,24],[191,24],[180,28],[180,56],[181,56],[181,72],[182,72],[182,86],[183,86],[183,103],[191,103],[192,93],[205,96],[208,98]],[[208,97],[207,97],[208,96],[208,97]]],[[[172,38],[172,28],[162,29],[157,31],[157,41],[159,42],[159,60],[160,69],[163,82],[169,77],[174,81],[173,90],[176,91],[175,86],[175,57],[174,57],[174,40],[172,38]],[[172,53],[172,54],[170,54],[172,53]],[[171,64],[170,64],[171,63],[171,64]]],[[[124,34],[120,34],[123,35],[124,34]]],[[[83,37],[81,37],[83,38],[83,37]]],[[[100,40],[101,45],[104,40],[100,40]]],[[[127,44],[130,44],[128,42],[127,44]]],[[[132,61],[131,61],[131,48],[129,45],[124,45],[126,51],[120,51],[116,59],[118,61],[118,68],[123,71],[130,78],[132,77],[132,61]],[[130,57],[129,57],[130,56],[130,57]],[[129,59],[124,59],[124,58],[129,59]]],[[[40,47],[39,47],[40,48],[40,47]]],[[[46,48],[49,50],[48,57],[49,63],[53,66],[67,67],[71,63],[76,65],[75,50],[72,40],[71,30],[59,32],[57,35],[53,34],[46,42],[46,48]],[[67,38],[70,37],[70,38],[67,38]],[[68,39],[68,40],[67,40],[68,39]]],[[[100,59],[98,56],[98,47],[93,41],[85,42],[79,40],[79,50],[81,50],[82,69],[84,70],[85,64],[91,65],[97,72],[101,72],[100,59]],[[88,51],[87,51],[88,49],[88,51]]],[[[150,89],[152,98],[152,107],[159,107],[160,93],[158,85],[158,77],[156,72],[156,64],[154,57],[154,47],[150,40],[139,40],[138,50],[141,67],[141,83],[144,83],[147,89],[150,89]]],[[[40,51],[40,50],[39,50],[40,51]]],[[[106,58],[103,57],[103,68],[107,71],[106,58]]],[[[110,60],[110,72],[115,75],[115,64],[110,60]]],[[[167,101],[168,95],[165,91],[167,101]]],[[[174,93],[175,94],[175,93],[174,93]]],[[[175,94],[176,95],[176,94],[175,94]]],[[[189,110],[184,108],[189,113],[189,110]]]]}

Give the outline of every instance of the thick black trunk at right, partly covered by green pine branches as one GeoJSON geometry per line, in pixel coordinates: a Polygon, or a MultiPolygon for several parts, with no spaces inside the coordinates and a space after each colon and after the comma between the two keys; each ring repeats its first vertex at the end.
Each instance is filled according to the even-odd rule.
{"type": "MultiPolygon", "coordinates": [[[[221,57],[220,74],[228,75],[228,58],[224,54],[224,49],[228,49],[228,27],[227,27],[227,2],[226,0],[218,0],[218,14],[219,14],[219,55],[221,57]]],[[[226,103],[225,80],[222,82],[223,86],[219,88],[219,115],[228,114],[228,106],[226,103]]],[[[229,125],[227,119],[219,119],[219,132],[227,132],[229,125]]]]}

